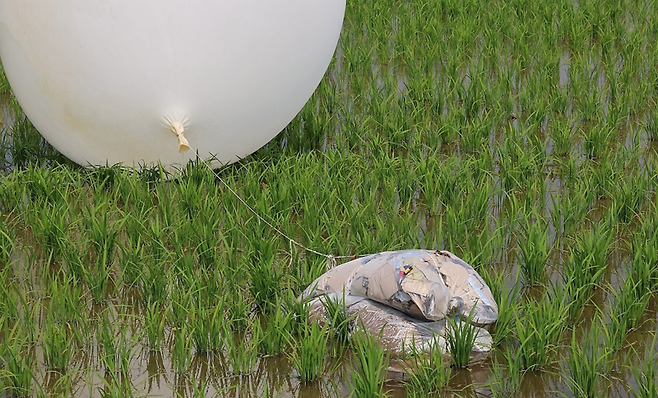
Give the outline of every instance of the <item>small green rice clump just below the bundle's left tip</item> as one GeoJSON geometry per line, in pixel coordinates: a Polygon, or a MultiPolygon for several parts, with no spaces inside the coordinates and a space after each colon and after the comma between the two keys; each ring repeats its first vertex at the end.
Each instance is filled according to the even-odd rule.
{"type": "Polygon", "coordinates": [[[290,354],[290,361],[304,383],[317,380],[324,372],[327,362],[327,326],[320,327],[316,322],[307,324],[298,336],[296,347],[290,354]]]}

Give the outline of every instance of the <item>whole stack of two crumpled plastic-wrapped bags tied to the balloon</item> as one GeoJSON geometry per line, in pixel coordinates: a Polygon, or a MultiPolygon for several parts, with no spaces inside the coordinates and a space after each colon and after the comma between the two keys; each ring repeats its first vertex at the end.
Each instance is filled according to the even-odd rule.
{"type": "MultiPolygon", "coordinates": [[[[444,353],[446,316],[488,325],[498,306],[491,290],[466,262],[448,251],[404,250],[377,253],[344,263],[316,279],[300,299],[310,300],[311,318],[326,322],[322,299],[345,300],[349,316],[393,354],[411,344],[425,350],[438,338],[444,353]]],[[[477,329],[474,353],[491,349],[486,329],[477,329]]]]}

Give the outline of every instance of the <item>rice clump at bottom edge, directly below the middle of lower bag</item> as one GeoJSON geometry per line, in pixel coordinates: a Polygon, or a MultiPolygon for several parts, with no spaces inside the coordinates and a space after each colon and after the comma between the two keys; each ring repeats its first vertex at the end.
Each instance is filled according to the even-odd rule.
{"type": "Polygon", "coordinates": [[[423,348],[412,342],[404,369],[409,377],[409,381],[405,381],[409,397],[442,396],[450,381],[450,366],[443,359],[443,350],[436,337],[423,348]]]}

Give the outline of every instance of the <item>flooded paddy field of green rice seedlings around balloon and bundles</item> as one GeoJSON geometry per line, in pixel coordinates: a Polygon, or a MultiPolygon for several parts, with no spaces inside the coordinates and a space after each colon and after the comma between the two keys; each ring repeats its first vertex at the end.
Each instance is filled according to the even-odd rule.
{"type": "Polygon", "coordinates": [[[655,397],[657,39],[651,1],[348,2],[313,97],[221,181],[73,165],[1,82],[0,395],[426,396],[314,343],[327,258],[230,187],[318,252],[478,270],[495,347],[437,396],[655,397]]]}

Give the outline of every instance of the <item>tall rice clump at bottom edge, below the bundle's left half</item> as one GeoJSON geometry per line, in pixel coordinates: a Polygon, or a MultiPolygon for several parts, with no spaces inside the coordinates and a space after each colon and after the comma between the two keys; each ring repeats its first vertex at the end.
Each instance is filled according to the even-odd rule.
{"type": "MultiPolygon", "coordinates": [[[[379,332],[383,333],[383,328],[379,332]]],[[[355,365],[352,368],[352,394],[359,398],[385,397],[384,381],[388,370],[389,353],[375,336],[359,330],[352,338],[355,365]]]]}

